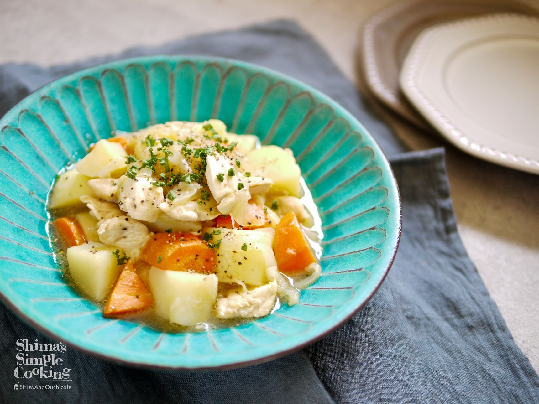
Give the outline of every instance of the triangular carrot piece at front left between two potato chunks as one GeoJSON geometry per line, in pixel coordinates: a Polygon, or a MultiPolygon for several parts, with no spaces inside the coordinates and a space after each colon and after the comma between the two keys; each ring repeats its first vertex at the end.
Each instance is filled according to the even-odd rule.
{"type": "Polygon", "coordinates": [[[127,261],[103,310],[105,316],[120,316],[147,309],[154,298],[135,272],[133,260],[127,261]]]}

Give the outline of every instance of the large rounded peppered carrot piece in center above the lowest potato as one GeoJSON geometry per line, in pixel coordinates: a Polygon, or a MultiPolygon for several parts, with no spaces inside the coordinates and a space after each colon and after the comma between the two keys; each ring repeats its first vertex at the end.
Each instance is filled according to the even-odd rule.
{"type": "Polygon", "coordinates": [[[190,233],[156,233],[142,249],[142,259],[156,268],[201,274],[215,272],[215,252],[190,233]]]}

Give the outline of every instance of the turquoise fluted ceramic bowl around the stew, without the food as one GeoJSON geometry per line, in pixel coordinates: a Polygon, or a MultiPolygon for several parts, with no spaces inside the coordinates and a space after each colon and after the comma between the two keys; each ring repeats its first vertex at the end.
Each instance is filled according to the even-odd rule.
{"type": "Polygon", "coordinates": [[[37,90],[0,127],[0,297],[34,328],[103,359],[203,369],[277,358],[352,316],[395,257],[399,194],[376,142],[335,101],[266,68],[202,57],[111,62],[37,90]],[[54,176],[115,130],[211,117],[294,151],[322,218],[322,276],[300,303],[234,328],[172,334],[103,318],[53,261],[45,202],[54,176]]]}

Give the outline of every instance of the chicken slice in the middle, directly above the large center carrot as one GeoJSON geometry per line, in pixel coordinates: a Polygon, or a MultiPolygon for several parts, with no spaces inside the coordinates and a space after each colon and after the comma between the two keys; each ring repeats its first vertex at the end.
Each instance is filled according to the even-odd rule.
{"type": "Polygon", "coordinates": [[[198,183],[176,184],[172,187],[172,192],[175,198],[167,199],[159,208],[173,219],[197,222],[211,220],[219,215],[215,199],[206,195],[208,200],[202,200],[204,190],[198,183]],[[199,204],[199,201],[202,203],[199,204]]]}

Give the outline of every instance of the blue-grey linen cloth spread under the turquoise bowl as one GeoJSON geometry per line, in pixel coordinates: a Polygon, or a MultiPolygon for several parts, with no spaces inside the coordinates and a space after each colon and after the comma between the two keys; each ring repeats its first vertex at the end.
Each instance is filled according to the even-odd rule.
{"type": "Polygon", "coordinates": [[[155,372],[68,350],[71,390],[14,392],[17,339],[46,338],[0,307],[2,402],[539,402],[539,379],[515,345],[459,239],[441,149],[405,152],[392,131],[297,25],[277,21],[161,47],[43,68],[0,66],[0,115],[32,90],[99,62],[206,54],[254,62],[333,97],[374,135],[403,200],[399,252],[386,281],[340,329],[267,364],[219,372],[155,372]],[[308,67],[308,68],[307,68],[308,67]]]}

